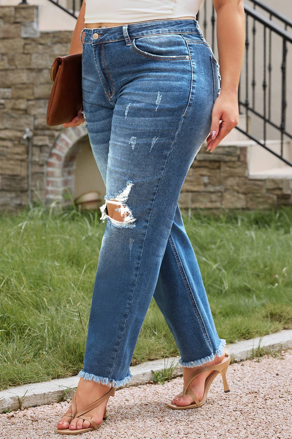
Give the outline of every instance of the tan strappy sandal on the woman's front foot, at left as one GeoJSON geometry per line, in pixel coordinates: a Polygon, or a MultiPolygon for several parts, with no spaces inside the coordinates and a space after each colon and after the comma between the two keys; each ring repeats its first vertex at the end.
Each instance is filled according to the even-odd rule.
{"type": "MultiPolygon", "coordinates": [[[[84,419],[85,421],[90,422],[93,427],[88,427],[88,428],[80,428],[80,429],[76,429],[76,430],[70,430],[70,428],[56,428],[55,433],[59,433],[61,435],[77,435],[79,433],[84,433],[84,432],[90,432],[91,430],[96,430],[96,428],[99,428],[99,426],[101,425],[102,422],[100,422],[99,425],[97,425],[95,423],[95,421],[93,421],[93,419],[91,419],[91,417],[87,417],[84,416],[85,413],[87,413],[88,411],[94,409],[95,407],[99,406],[99,404],[101,404],[106,398],[109,398],[109,396],[115,396],[116,393],[116,388],[112,387],[109,392],[107,392],[105,395],[103,395],[101,398],[97,399],[94,403],[90,404],[89,406],[85,407],[83,410],[80,410],[78,413],[76,413],[76,401],[75,401],[75,394],[72,398],[72,411],[73,413],[67,413],[64,416],[70,416],[72,419],[74,419],[74,417],[79,417],[81,419],[84,419]]],[[[102,419],[106,419],[106,408],[105,411],[103,413],[103,417],[102,419]]]]}

